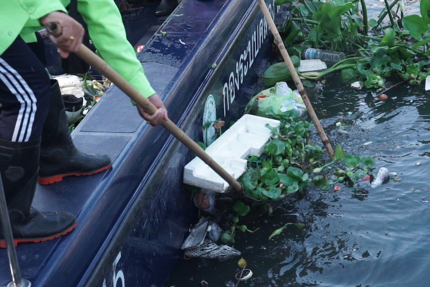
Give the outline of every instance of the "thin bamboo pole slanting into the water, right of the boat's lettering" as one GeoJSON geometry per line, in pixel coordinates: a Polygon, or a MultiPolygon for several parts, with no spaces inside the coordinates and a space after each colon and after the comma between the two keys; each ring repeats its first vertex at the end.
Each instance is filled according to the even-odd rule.
{"type": "Polygon", "coordinates": [[[282,40],[281,36],[279,35],[278,29],[276,28],[275,22],[272,19],[272,16],[270,15],[269,9],[267,8],[266,2],[264,0],[258,0],[258,4],[260,5],[261,11],[263,12],[264,17],[266,18],[266,21],[269,25],[270,31],[273,34],[273,37],[275,38],[276,44],[279,48],[279,51],[281,52],[282,58],[284,59],[285,63],[287,64],[288,70],[291,73],[291,76],[294,80],[294,83],[296,84],[297,90],[299,91],[300,95],[302,96],[303,102],[306,105],[306,108],[308,110],[308,113],[318,131],[318,134],[321,138],[321,141],[323,142],[324,146],[327,149],[327,152],[331,159],[334,158],[334,151],[331,147],[330,141],[327,138],[327,135],[324,132],[324,128],[322,127],[320,121],[318,120],[317,115],[315,114],[314,108],[312,107],[312,103],[309,100],[309,97],[303,87],[302,82],[300,81],[299,75],[297,74],[297,71],[294,67],[293,62],[291,61],[290,56],[288,55],[287,49],[285,48],[284,41],[282,40]]]}

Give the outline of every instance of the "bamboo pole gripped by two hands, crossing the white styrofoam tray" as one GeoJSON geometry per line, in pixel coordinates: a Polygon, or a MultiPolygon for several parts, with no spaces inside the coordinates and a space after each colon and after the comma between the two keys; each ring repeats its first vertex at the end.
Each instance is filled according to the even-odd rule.
{"type": "MultiPolygon", "coordinates": [[[[62,27],[55,22],[49,23],[46,28],[47,31],[55,36],[62,33],[62,27]]],[[[137,89],[135,89],[129,82],[127,82],[120,74],[112,69],[103,59],[97,56],[93,51],[81,44],[79,52],[76,53],[82,60],[90,64],[97,71],[105,75],[112,81],[119,89],[121,89],[127,96],[140,105],[147,113],[154,114],[157,111],[155,107],[146,97],[144,97],[137,89]]],[[[162,126],[166,128],[173,136],[180,142],[187,146],[193,153],[195,153],[203,162],[211,167],[222,179],[224,179],[230,187],[237,192],[243,190],[242,184],[225,171],[219,164],[217,164],[210,155],[208,155],[195,141],[193,141],[187,134],[184,133],[176,124],[170,119],[165,120],[162,126]]]]}

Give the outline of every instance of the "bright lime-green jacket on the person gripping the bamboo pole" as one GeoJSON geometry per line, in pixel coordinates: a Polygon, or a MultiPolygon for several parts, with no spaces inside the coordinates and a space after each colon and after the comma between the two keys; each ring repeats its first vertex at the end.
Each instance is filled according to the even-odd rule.
{"type": "MultiPolygon", "coordinates": [[[[114,0],[78,0],[78,12],[88,26],[97,52],[142,95],[155,94],[133,46],[127,40],[121,13],[114,0]]],[[[0,0],[0,55],[18,35],[34,41],[43,27],[39,18],[52,11],[66,11],[70,0],[0,0]]]]}

